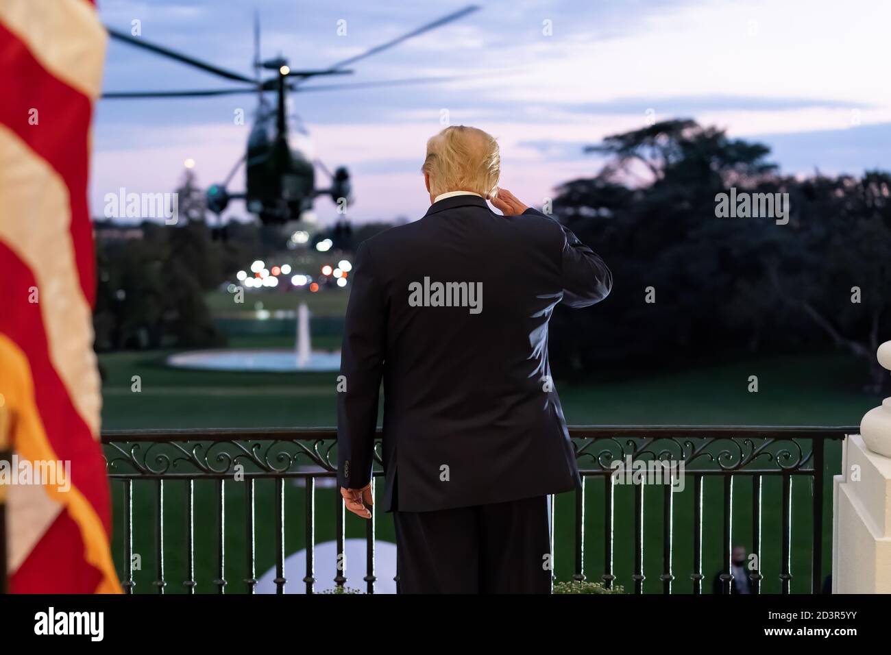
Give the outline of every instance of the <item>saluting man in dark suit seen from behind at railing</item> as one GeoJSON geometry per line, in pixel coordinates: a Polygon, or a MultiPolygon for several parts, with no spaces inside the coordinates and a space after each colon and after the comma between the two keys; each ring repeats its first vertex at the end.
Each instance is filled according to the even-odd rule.
{"type": "Polygon", "coordinates": [[[579,485],[548,364],[561,300],[604,299],[593,250],[498,190],[495,139],[431,138],[430,208],[356,252],[338,401],[338,480],[371,513],[384,387],[384,509],[394,512],[400,593],[549,593],[548,496],[579,485]],[[503,216],[486,204],[492,201],[503,216]]]}

